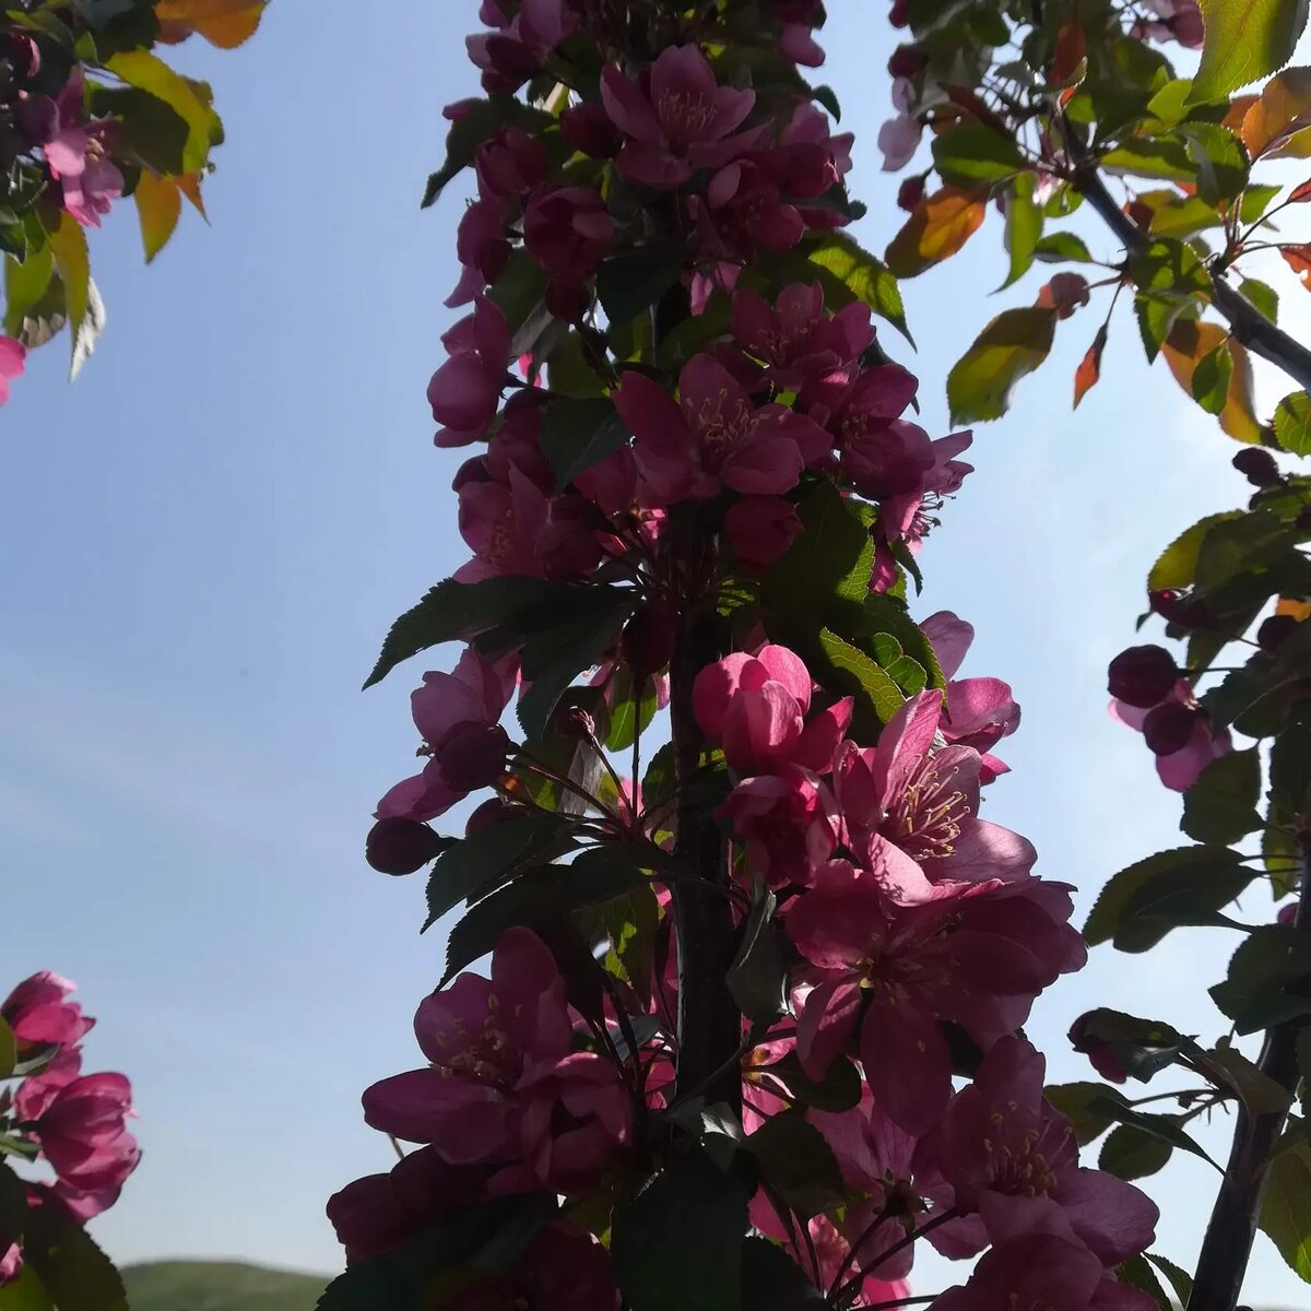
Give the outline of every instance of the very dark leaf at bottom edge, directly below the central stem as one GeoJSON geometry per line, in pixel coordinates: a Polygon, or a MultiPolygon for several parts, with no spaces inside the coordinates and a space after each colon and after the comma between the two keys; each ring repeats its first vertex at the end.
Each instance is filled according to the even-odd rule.
{"type": "Polygon", "coordinates": [[[632,1311],[738,1311],[746,1203],[742,1185],[695,1152],[620,1205],[610,1260],[632,1311]]]}

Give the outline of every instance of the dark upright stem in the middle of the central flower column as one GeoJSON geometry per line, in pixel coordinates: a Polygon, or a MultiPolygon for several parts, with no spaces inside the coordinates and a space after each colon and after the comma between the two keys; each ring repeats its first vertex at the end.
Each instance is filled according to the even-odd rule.
{"type": "MultiPolygon", "coordinates": [[[[671,531],[684,583],[703,577],[713,555],[713,540],[697,507],[686,510],[671,531]]],[[[675,852],[695,874],[670,888],[678,932],[678,1095],[695,1088],[707,1101],[728,1103],[735,1112],[742,1101],[742,1074],[733,1054],[742,1041],[742,1020],[728,987],[734,939],[725,895],[728,851],[718,825],[690,787],[705,746],[692,709],[692,684],[720,658],[717,616],[704,606],[704,598],[695,598],[695,586],[687,587],[687,600],[670,662],[679,787],[675,852]]]]}

